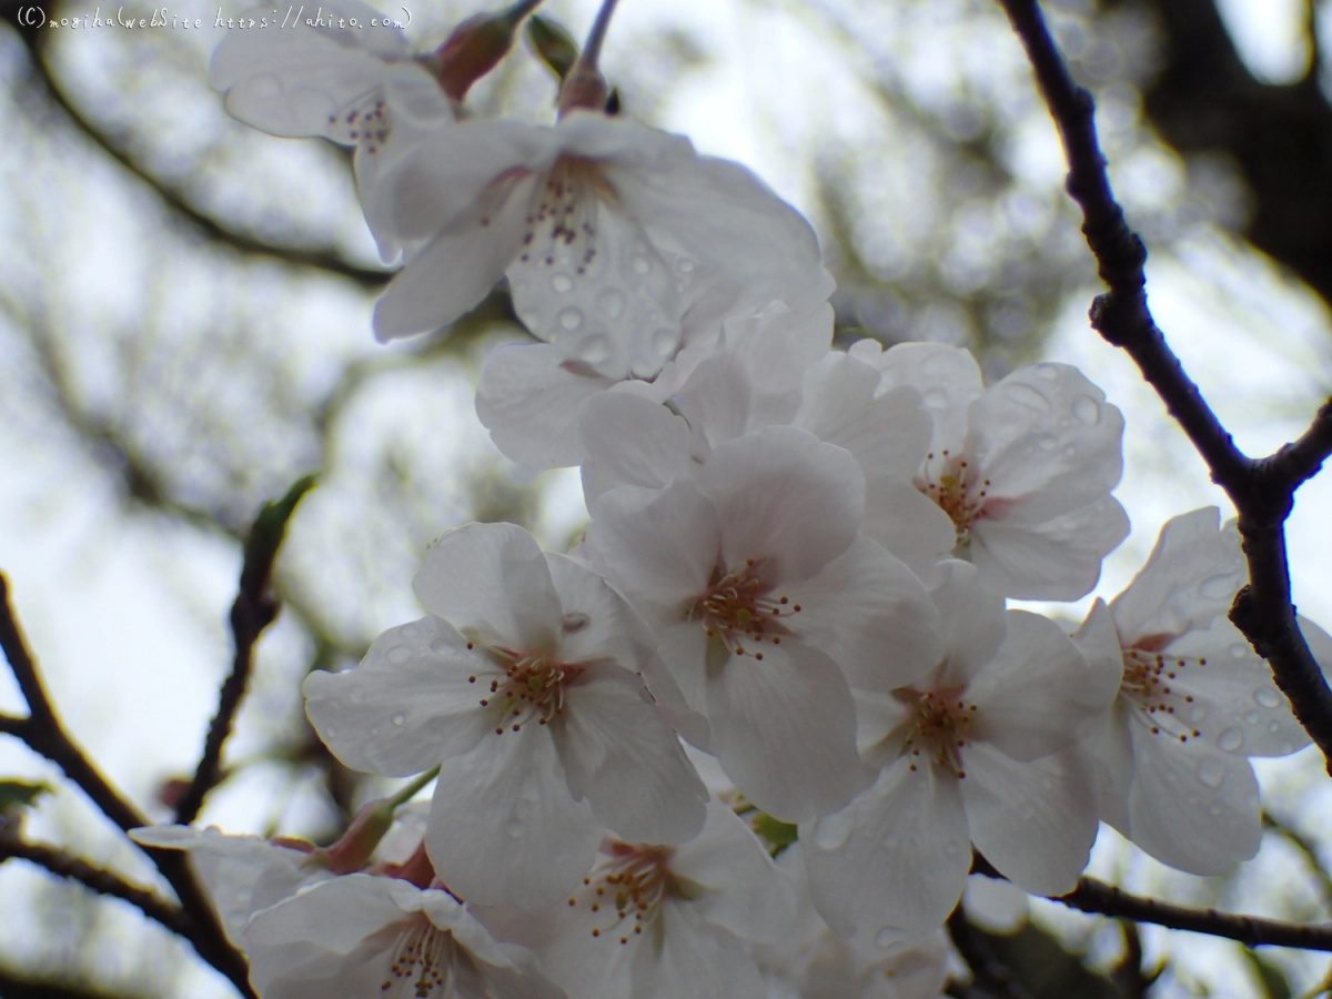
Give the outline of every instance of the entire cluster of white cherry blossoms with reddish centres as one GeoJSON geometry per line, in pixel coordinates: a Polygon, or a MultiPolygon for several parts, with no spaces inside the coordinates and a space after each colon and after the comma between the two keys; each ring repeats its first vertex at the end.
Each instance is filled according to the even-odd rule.
{"type": "Polygon", "coordinates": [[[450,530],[428,615],[306,681],[341,762],[436,778],[393,850],[396,802],[325,850],[137,832],[192,852],[260,995],[928,999],[975,852],[1040,895],[1102,821],[1196,874],[1251,856],[1247,758],[1308,739],[1225,617],[1233,523],[1172,519],[1075,634],[1007,609],[1086,595],[1128,533],[1120,412],[1068,365],[987,388],[952,346],[831,349],[809,224],[605,111],[586,52],[555,125],[469,119],[531,5],[430,56],[309,27],[213,60],[241,120],[357,148],[404,262],[381,340],[507,278],[539,342],[477,410],[579,465],[590,513],[569,554],[450,530]]]}

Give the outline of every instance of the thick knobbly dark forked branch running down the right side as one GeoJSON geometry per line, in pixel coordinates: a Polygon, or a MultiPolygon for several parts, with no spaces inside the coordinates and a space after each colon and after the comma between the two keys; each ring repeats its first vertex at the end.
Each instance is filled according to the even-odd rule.
{"type": "Polygon", "coordinates": [[[1332,401],[1299,441],[1271,457],[1252,460],[1235,446],[1152,320],[1143,270],[1147,249],[1124,221],[1106,176],[1091,93],[1070,76],[1036,0],[999,3],[1027,49],[1059,128],[1068,193],[1082,208],[1083,233],[1110,289],[1092,302],[1091,325],[1134,358],[1235,503],[1249,583],[1236,594],[1231,621],[1268,661],[1276,685],[1332,771],[1332,690],[1300,634],[1285,554],[1285,519],[1295,490],[1332,454],[1332,401]]]}

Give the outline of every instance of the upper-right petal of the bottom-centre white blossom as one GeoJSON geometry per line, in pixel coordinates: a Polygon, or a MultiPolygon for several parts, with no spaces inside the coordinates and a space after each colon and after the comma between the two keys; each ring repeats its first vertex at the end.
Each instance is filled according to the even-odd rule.
{"type": "Polygon", "coordinates": [[[725,802],[709,802],[703,831],[675,848],[671,871],[706,888],[691,899],[702,919],[741,939],[777,943],[791,927],[794,879],[725,802]]]}

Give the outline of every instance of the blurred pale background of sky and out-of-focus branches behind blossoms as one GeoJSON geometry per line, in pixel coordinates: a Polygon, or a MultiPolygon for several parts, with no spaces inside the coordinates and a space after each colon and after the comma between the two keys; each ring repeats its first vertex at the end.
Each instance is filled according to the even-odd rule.
{"type": "MultiPolygon", "coordinates": [[[[1332,4],[1047,8],[1096,93],[1112,181],[1151,250],[1162,329],[1240,446],[1273,450],[1332,390],[1332,205],[1319,201],[1332,197],[1321,193],[1332,76],[1313,44],[1332,52],[1332,4]],[[1205,51],[1179,40],[1171,17],[1185,15],[1216,17],[1189,43],[1205,51]]],[[[206,80],[226,31],[216,3],[169,7],[202,20],[188,31],[39,29],[0,9],[0,569],[16,610],[68,729],[165,821],[163,789],[190,773],[229,666],[240,538],[265,498],[317,472],[278,562],[284,611],[258,646],[230,778],[200,822],[326,842],[376,787],[309,729],[304,675],[356,662],[380,631],[420,615],[410,579],[444,530],[514,521],[559,551],[585,521],[577,469],[515,476],[473,412],[488,352],[526,334],[497,292],[448,340],[374,342],[388,274],[350,159],[225,115],[206,80]]],[[[412,4],[408,33],[434,48],[476,9],[412,4]]],[[[594,9],[549,0],[543,13],[581,36],[594,9]]],[[[88,0],[45,9],[48,23],[92,12],[88,0]]],[[[1127,420],[1118,496],[1134,531],[1096,594],[1123,589],[1167,518],[1229,509],[1131,361],[1087,325],[1094,265],[1058,139],[996,4],[623,0],[602,68],[625,113],[745,163],[810,217],[838,280],[838,342],[963,345],[988,380],[1067,361],[1106,390],[1127,420]]],[[[554,91],[519,45],[469,105],[549,121],[554,91]]],[[[1289,526],[1295,601],[1324,627],[1329,509],[1324,473],[1300,490],[1289,526]]],[[[1078,621],[1091,601],[1042,609],[1078,621]]],[[[0,710],[21,710],[5,670],[0,710]]],[[[13,739],[0,739],[0,775],[59,783],[13,739]]],[[[1107,827],[1088,872],[1189,904],[1332,919],[1320,867],[1332,860],[1332,793],[1317,750],[1261,761],[1260,779],[1271,842],[1235,874],[1169,871],[1107,827]]],[[[32,834],[151,882],[59,786],[32,834]]],[[[1012,934],[1018,964],[1022,954],[1052,975],[1070,964],[1040,995],[1114,995],[1056,959],[1058,942],[1112,968],[1123,942],[1110,920],[1002,886],[968,891],[967,904],[1012,934]]],[[[1166,967],[1154,996],[1312,996],[1329,964],[1156,927],[1143,927],[1143,946],[1148,966],[1166,967]]],[[[136,910],[17,862],[0,866],[0,972],[116,996],[233,995],[136,910]]]]}

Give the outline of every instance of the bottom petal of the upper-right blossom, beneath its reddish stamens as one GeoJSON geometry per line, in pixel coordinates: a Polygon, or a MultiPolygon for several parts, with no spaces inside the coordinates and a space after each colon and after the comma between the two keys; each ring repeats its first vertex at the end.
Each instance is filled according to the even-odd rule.
{"type": "MultiPolygon", "coordinates": [[[[1014,599],[1072,601],[1096,585],[1100,562],[1128,537],[1128,514],[1112,496],[1040,523],[1006,519],[1019,505],[971,525],[971,561],[986,585],[1014,599]]],[[[996,513],[990,515],[991,507],[996,513]]]]}

